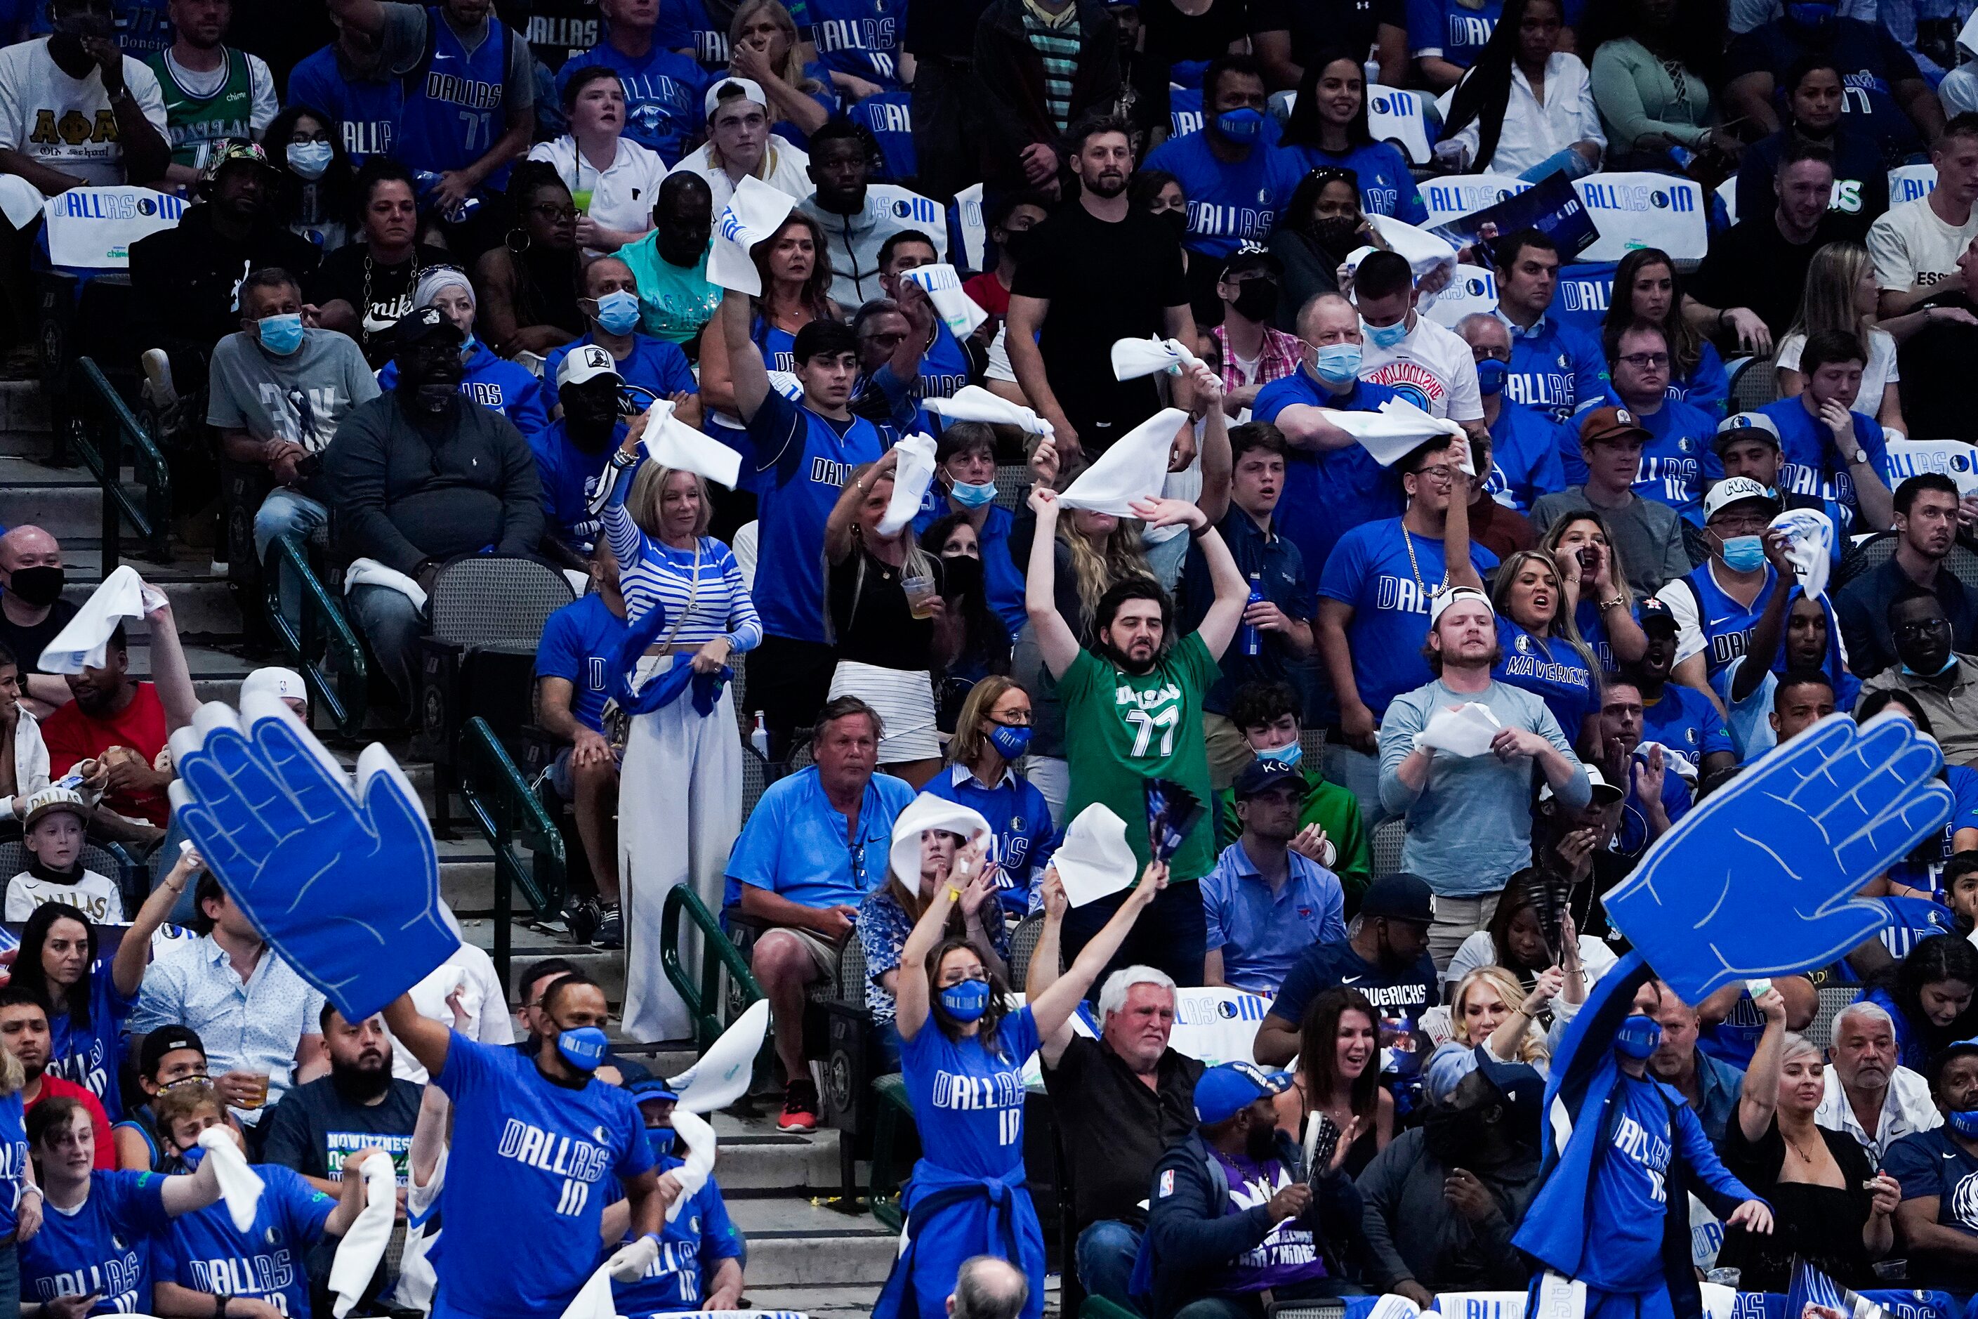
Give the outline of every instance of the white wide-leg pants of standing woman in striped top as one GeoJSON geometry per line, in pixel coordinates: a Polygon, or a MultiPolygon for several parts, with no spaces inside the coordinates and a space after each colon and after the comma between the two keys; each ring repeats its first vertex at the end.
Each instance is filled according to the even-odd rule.
{"type": "MultiPolygon", "coordinates": [[[[639,660],[639,682],[686,655],[639,660]]],[[[625,906],[625,1034],[633,1040],[692,1036],[686,1003],[661,965],[661,916],[674,884],[716,916],[728,850],[742,833],[742,730],[734,688],[712,714],[694,710],[692,688],[671,706],[641,714],[625,738],[619,773],[619,874],[625,906]]],[[[686,955],[688,975],[700,959],[686,955]]]]}

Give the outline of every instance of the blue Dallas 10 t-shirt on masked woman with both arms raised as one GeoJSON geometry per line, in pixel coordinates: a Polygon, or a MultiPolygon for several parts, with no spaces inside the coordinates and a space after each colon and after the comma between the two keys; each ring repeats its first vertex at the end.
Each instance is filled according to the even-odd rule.
{"type": "Polygon", "coordinates": [[[949,1040],[930,1016],[900,1040],[900,1072],[914,1099],[922,1159],[963,1177],[1023,1181],[1023,1064],[1042,1040],[1029,1005],[979,1036],[949,1040]]]}

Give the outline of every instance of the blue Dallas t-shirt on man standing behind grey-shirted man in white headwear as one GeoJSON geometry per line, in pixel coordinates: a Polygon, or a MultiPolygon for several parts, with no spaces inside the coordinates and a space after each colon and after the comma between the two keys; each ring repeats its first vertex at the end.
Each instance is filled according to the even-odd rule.
{"type": "MultiPolygon", "coordinates": [[[[1489,573],[1497,556],[1472,542],[1470,564],[1489,573]]],[[[1319,595],[1353,607],[1347,623],[1353,682],[1377,720],[1387,702],[1434,680],[1422,659],[1422,639],[1428,637],[1428,605],[1444,581],[1442,542],[1408,532],[1400,518],[1355,526],[1325,562],[1319,595]]]]}

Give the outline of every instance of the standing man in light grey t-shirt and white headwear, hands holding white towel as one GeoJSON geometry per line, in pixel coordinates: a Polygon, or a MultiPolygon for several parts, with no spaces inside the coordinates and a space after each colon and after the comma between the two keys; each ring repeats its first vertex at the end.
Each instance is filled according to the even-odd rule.
{"type": "Polygon", "coordinates": [[[1569,811],[1584,807],[1590,789],[1545,702],[1489,676],[1501,653],[1484,591],[1438,597],[1426,659],[1436,680],[1396,696],[1381,720],[1381,805],[1408,819],[1400,868],[1436,894],[1428,953],[1440,971],[1489,925],[1505,880],[1531,864],[1533,769],[1569,811]],[[1487,749],[1456,755],[1418,740],[1436,712],[1466,704],[1485,706],[1501,726],[1487,749]]]}

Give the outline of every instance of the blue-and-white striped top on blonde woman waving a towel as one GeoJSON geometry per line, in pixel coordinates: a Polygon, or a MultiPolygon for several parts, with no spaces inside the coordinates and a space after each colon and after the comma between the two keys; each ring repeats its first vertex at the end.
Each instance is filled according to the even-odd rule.
{"type": "MultiPolygon", "coordinates": [[[[736,655],[754,651],[762,643],[762,619],[756,617],[756,601],[742,585],[742,566],[736,564],[734,550],[712,536],[702,536],[698,550],[674,550],[641,532],[625,512],[631,473],[631,465],[611,455],[597,490],[597,498],[603,500],[605,540],[619,564],[619,591],[625,593],[627,619],[637,623],[657,603],[667,611],[667,635],[673,645],[700,645],[728,637],[736,655]],[[682,611],[686,621],[678,623],[682,611]]],[[[593,498],[593,506],[595,502],[593,498]]]]}

